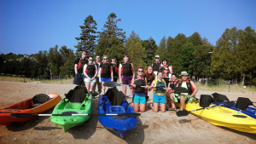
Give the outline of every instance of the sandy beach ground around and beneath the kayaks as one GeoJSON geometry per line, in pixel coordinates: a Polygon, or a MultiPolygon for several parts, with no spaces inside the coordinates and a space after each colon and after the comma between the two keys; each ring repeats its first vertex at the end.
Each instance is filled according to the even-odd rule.
{"type": "MultiPolygon", "coordinates": [[[[1,106],[5,107],[16,101],[22,101],[33,95],[58,93],[61,97],[73,89],[73,84],[37,84],[0,82],[1,106]]],[[[119,87],[119,90],[121,88],[119,87]]],[[[211,95],[215,91],[201,91],[201,94],[211,95]]],[[[256,101],[255,93],[218,92],[227,95],[230,100],[238,96],[248,97],[256,101]]],[[[130,93],[129,93],[130,94],[130,93]]],[[[148,103],[152,102],[150,93],[148,103]]],[[[93,112],[97,112],[97,101],[93,100],[93,112]]],[[[128,99],[128,101],[131,101],[128,99]]],[[[47,113],[51,113],[50,110],[47,113]]],[[[230,130],[208,124],[192,114],[177,117],[175,112],[143,112],[137,118],[137,128],[131,130],[124,139],[102,127],[97,117],[91,117],[83,125],[64,133],[49,117],[38,117],[23,124],[0,126],[1,143],[255,143],[256,135],[230,130]],[[181,122],[186,123],[181,123],[181,122]]]]}

